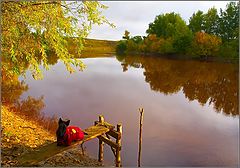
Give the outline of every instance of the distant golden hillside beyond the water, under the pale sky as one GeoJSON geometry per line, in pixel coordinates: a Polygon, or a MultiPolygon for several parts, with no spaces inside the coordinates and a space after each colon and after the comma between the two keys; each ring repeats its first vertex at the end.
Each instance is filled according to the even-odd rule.
{"type": "MultiPolygon", "coordinates": [[[[76,53],[76,43],[74,39],[69,41],[69,51],[76,53]]],[[[109,40],[96,40],[96,39],[85,39],[84,50],[82,51],[81,57],[95,57],[102,55],[113,55],[115,54],[117,41],[109,40]]]]}

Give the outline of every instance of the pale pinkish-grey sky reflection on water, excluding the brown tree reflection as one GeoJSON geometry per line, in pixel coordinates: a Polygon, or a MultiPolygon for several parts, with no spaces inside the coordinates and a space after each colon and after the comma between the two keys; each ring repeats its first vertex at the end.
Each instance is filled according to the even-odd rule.
{"type": "MultiPolygon", "coordinates": [[[[84,72],[69,74],[62,63],[44,72],[44,79],[27,79],[23,94],[44,95],[47,115],[69,118],[82,128],[93,125],[99,114],[123,124],[123,165],[137,165],[138,108],[144,107],[142,164],[145,166],[236,165],[238,117],[216,113],[212,105],[189,101],[182,91],[164,95],[150,89],[144,70],[122,72],[115,58],[83,59],[84,72]]],[[[97,141],[87,142],[97,156],[97,141]]],[[[113,160],[105,145],[105,160],[113,160]]]]}

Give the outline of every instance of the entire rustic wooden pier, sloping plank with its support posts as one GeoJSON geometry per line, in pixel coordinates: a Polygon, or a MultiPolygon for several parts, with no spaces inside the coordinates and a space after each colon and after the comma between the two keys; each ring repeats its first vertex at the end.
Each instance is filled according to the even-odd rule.
{"type": "MultiPolygon", "coordinates": [[[[18,166],[35,166],[38,162],[48,159],[58,153],[66,151],[70,148],[76,147],[78,145],[83,145],[83,143],[98,138],[99,139],[99,153],[98,161],[103,162],[103,149],[104,143],[108,144],[115,156],[115,166],[121,166],[121,138],[122,138],[122,125],[118,124],[117,129],[114,130],[115,126],[104,121],[103,116],[99,116],[99,120],[94,122],[94,126],[91,126],[84,130],[88,135],[84,136],[82,141],[73,142],[70,146],[57,146],[57,142],[51,143],[49,145],[43,146],[36,149],[33,152],[27,153],[18,159],[18,166]],[[111,137],[115,138],[115,141],[111,140],[111,137]]],[[[82,148],[83,149],[83,148],[82,148]]]]}

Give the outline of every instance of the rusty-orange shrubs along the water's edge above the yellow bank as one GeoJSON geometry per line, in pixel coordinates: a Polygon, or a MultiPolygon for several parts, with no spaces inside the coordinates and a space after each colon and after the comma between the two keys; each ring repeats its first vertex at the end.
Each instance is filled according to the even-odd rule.
{"type": "Polygon", "coordinates": [[[43,96],[34,98],[28,96],[21,99],[21,95],[28,90],[28,85],[19,81],[17,77],[11,80],[3,80],[2,87],[2,105],[7,106],[18,115],[27,120],[39,123],[42,127],[55,134],[57,129],[57,118],[55,116],[47,117],[42,112],[45,107],[43,96]]]}

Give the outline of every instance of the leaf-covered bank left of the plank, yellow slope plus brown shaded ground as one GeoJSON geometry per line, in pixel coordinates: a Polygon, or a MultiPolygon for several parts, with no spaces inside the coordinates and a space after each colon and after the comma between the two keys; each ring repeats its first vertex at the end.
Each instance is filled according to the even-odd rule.
{"type": "Polygon", "coordinates": [[[14,166],[26,152],[55,141],[55,136],[33,121],[24,119],[2,106],[1,165],[14,166]]]}

